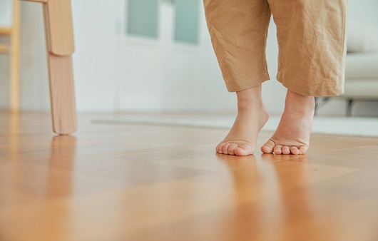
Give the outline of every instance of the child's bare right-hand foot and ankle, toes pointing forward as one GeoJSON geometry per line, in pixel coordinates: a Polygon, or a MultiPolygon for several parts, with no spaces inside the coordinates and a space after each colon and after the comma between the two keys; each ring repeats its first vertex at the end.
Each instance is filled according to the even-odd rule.
{"type": "Polygon", "coordinates": [[[285,111],[280,124],[272,138],[262,145],[262,152],[305,154],[310,145],[314,109],[313,96],[302,96],[287,90],[285,111]]]}

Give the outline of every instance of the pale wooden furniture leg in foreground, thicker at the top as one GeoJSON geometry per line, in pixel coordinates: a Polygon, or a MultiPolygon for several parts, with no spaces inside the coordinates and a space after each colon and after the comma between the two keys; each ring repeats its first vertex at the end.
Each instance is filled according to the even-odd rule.
{"type": "Polygon", "coordinates": [[[53,131],[66,135],[77,128],[71,56],[74,51],[71,1],[47,1],[44,22],[53,131]]]}

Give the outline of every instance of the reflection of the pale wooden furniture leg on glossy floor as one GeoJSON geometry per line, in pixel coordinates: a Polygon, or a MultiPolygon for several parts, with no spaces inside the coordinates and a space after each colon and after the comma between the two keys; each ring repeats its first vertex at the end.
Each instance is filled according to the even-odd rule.
{"type": "MultiPolygon", "coordinates": [[[[64,162],[67,168],[72,168],[76,155],[76,136],[56,135],[53,136],[50,144],[51,155],[46,167],[46,187],[44,197],[50,200],[50,205],[41,205],[36,209],[36,216],[40,222],[36,229],[41,235],[48,232],[55,237],[67,238],[72,232],[72,219],[74,217],[70,202],[54,202],[57,198],[63,200],[73,195],[73,172],[71,170],[58,170],[54,168],[64,162]]],[[[42,184],[42,183],[41,183],[42,184]]],[[[43,238],[41,236],[41,240],[43,238]]]]}

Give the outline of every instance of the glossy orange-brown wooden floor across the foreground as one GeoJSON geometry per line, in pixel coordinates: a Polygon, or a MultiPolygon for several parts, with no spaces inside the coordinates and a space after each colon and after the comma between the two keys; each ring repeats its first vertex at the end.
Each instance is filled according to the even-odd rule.
{"type": "MultiPolygon", "coordinates": [[[[0,112],[1,241],[378,240],[378,138],[215,153],[227,130],[0,112]]],[[[261,133],[261,145],[271,133],[261,133]]]]}

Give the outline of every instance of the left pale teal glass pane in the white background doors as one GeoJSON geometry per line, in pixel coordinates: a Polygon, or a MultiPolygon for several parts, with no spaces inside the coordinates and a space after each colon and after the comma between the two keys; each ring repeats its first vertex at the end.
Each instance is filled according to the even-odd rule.
{"type": "Polygon", "coordinates": [[[128,0],[126,33],[158,38],[158,0],[128,0]]]}

